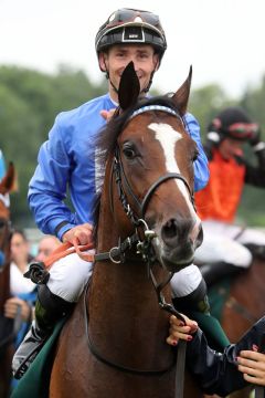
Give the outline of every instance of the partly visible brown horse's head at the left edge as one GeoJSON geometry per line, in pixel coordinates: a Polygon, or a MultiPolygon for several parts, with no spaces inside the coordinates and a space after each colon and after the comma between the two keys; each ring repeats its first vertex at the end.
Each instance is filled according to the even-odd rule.
{"type": "Polygon", "coordinates": [[[9,165],[6,176],[0,181],[0,269],[7,263],[7,253],[10,244],[10,210],[9,192],[14,190],[15,172],[12,164],[9,165]]]}

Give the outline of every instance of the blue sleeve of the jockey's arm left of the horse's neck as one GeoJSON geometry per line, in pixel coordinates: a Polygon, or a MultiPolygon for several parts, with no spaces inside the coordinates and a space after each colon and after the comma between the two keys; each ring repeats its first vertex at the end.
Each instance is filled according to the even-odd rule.
{"type": "Polygon", "coordinates": [[[64,203],[72,165],[59,119],[49,134],[49,140],[40,148],[38,163],[29,185],[30,209],[44,233],[55,234],[56,227],[66,222],[60,230],[61,239],[65,231],[75,227],[75,216],[64,203]]]}

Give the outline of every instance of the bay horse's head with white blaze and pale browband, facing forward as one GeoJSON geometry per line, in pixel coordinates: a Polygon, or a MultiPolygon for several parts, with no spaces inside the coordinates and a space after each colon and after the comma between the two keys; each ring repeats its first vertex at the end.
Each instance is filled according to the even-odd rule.
{"type": "Polygon", "coordinates": [[[126,235],[131,223],[152,230],[156,255],[170,271],[190,264],[202,241],[193,203],[198,149],[183,121],[190,84],[191,71],[174,95],[137,102],[139,83],[129,64],[119,85],[123,113],[109,126],[118,132],[108,150],[115,153],[118,197],[128,216],[114,211],[120,234],[126,235]]]}

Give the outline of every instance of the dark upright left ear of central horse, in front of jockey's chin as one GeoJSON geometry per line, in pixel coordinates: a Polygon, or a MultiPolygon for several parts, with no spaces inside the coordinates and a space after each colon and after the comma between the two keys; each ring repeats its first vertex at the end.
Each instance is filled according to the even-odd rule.
{"type": "Polygon", "coordinates": [[[119,82],[118,101],[123,111],[136,104],[140,93],[140,83],[137,77],[134,62],[129,62],[123,72],[119,82]]]}

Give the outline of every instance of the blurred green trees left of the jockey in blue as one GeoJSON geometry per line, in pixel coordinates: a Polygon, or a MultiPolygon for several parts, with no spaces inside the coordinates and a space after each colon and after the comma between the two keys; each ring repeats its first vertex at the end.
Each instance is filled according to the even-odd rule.
{"type": "Polygon", "coordinates": [[[14,224],[34,224],[26,202],[28,185],[56,114],[105,92],[105,81],[94,85],[84,72],[63,65],[55,75],[0,66],[0,147],[7,163],[14,163],[19,181],[19,191],[11,195],[14,224]]]}

